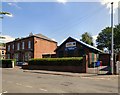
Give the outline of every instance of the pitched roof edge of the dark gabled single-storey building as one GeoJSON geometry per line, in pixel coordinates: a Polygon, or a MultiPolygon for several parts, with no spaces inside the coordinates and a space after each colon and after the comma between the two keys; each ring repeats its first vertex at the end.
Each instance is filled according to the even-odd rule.
{"type": "MultiPolygon", "coordinates": [[[[67,41],[68,39],[73,39],[73,40],[77,41],[78,43],[80,43],[80,44],[82,44],[82,45],[84,45],[84,46],[86,46],[86,47],[88,47],[88,48],[90,48],[90,49],[93,49],[93,50],[95,50],[95,51],[97,51],[97,52],[103,52],[102,50],[100,50],[100,49],[98,49],[98,48],[96,48],[96,47],[94,47],[94,46],[91,46],[91,45],[89,45],[89,44],[86,44],[85,42],[79,41],[79,40],[74,39],[74,38],[72,38],[72,37],[68,37],[56,50],[58,50],[64,43],[66,43],[66,41],[67,41]]],[[[55,50],[55,51],[56,51],[56,50],[55,50]]]]}

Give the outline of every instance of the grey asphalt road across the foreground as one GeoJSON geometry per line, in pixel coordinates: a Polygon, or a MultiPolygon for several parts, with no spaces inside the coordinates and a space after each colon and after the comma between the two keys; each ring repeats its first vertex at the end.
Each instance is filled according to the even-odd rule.
{"type": "Polygon", "coordinates": [[[2,70],[3,93],[118,93],[118,79],[101,80],[2,70]]]}

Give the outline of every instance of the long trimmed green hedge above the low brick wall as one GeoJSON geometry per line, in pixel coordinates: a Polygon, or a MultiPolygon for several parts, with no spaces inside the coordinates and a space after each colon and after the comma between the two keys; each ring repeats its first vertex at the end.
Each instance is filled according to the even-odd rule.
{"type": "Polygon", "coordinates": [[[83,58],[41,58],[31,59],[28,65],[40,66],[80,66],[83,63],[83,58]]]}

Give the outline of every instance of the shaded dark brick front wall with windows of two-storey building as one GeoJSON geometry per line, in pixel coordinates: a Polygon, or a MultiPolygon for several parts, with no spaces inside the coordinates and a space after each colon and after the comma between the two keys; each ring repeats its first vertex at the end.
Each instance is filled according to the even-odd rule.
{"type": "MultiPolygon", "coordinates": [[[[18,55],[17,61],[25,61],[25,53],[30,52],[31,58],[33,58],[34,52],[34,37],[27,37],[23,39],[17,39],[12,42],[6,44],[6,55],[10,55],[10,59],[16,59],[16,55],[18,55]],[[31,41],[31,48],[28,48],[28,41],[31,41]],[[22,42],[24,42],[24,49],[22,48],[22,42]],[[18,50],[18,43],[20,44],[20,48],[18,50]],[[14,48],[13,48],[14,45],[14,48]],[[8,50],[8,46],[10,46],[10,50],[8,50]]],[[[8,56],[7,56],[8,58],[8,56]]]]}

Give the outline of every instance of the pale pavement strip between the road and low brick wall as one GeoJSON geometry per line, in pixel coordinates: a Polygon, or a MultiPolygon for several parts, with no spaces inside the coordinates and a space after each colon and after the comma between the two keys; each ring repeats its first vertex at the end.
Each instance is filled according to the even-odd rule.
{"type": "MultiPolygon", "coordinates": [[[[14,69],[20,69],[21,67],[15,67],[14,69]]],[[[73,73],[73,72],[60,72],[60,71],[47,71],[47,70],[23,70],[28,73],[39,73],[39,74],[51,74],[51,75],[62,75],[71,77],[91,78],[91,79],[118,79],[118,75],[106,75],[106,74],[94,74],[94,73],[73,73]]]]}

